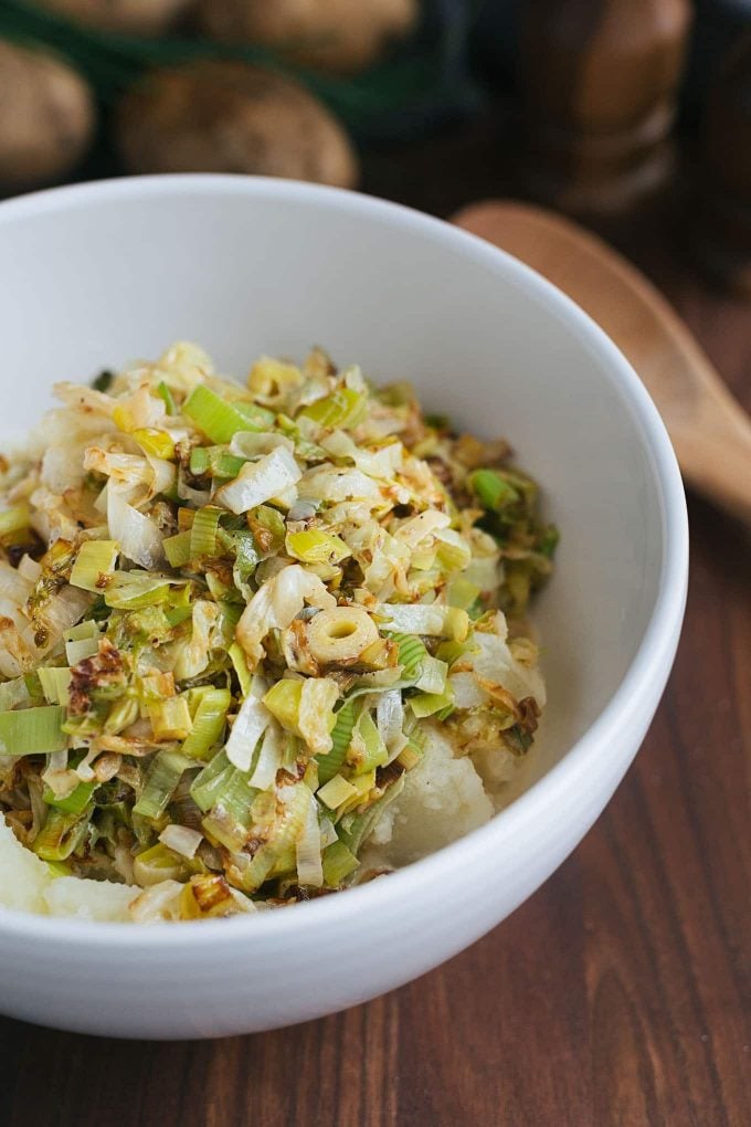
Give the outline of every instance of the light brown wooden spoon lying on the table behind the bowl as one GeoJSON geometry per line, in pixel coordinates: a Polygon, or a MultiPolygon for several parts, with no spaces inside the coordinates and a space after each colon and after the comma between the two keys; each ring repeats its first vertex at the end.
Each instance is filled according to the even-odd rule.
{"type": "Polygon", "coordinates": [[[454,221],[516,255],[615,340],[660,410],[686,481],[751,523],[751,421],[651,282],[570,220],[511,201],[473,204],[454,221]]]}

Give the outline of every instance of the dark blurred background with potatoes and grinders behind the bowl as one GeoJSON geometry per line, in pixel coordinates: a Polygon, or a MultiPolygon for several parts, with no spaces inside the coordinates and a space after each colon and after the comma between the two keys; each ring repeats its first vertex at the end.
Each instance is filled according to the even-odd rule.
{"type": "Polygon", "coordinates": [[[751,0],[0,0],[0,194],[240,172],[515,197],[751,296],[751,0]]]}

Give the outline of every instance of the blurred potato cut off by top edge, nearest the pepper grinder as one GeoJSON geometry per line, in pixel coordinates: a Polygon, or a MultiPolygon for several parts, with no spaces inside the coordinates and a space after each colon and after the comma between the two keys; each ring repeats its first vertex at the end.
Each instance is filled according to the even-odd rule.
{"type": "Polygon", "coordinates": [[[202,28],[334,73],[369,66],[417,23],[418,0],[200,0],[202,28]]]}

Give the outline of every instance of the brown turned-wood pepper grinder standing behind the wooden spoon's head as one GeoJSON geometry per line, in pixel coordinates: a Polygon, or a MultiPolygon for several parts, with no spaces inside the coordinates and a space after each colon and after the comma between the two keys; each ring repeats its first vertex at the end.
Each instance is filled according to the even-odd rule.
{"type": "Polygon", "coordinates": [[[622,213],[672,171],[689,0],[528,0],[524,189],[564,211],[622,213]]]}

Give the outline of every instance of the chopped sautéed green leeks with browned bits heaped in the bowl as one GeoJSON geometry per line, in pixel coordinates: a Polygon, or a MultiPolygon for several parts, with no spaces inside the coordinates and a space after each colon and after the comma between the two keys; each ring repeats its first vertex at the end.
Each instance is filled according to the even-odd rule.
{"type": "Polygon", "coordinates": [[[0,477],[0,811],[51,885],[138,921],[324,895],[527,753],[557,534],[506,443],[318,348],[56,393],[0,477]]]}

